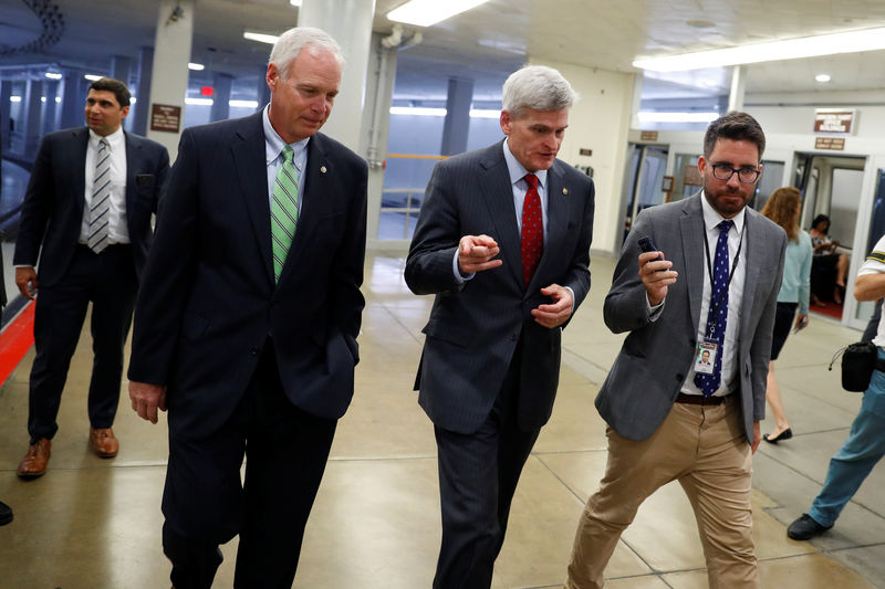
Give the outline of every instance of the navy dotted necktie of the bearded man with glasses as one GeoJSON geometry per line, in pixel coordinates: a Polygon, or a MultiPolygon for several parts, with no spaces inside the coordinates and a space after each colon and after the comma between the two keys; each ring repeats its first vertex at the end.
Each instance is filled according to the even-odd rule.
{"type": "MultiPolygon", "coordinates": [[[[728,232],[735,222],[725,220],[718,225],[719,241],[716,242],[716,256],[712,262],[712,285],[710,286],[710,309],[707,314],[707,339],[718,344],[716,360],[712,362],[712,374],[695,375],[695,385],[710,397],[719,389],[722,380],[722,348],[726,341],[726,323],[728,322],[728,232]]],[[[704,239],[707,239],[705,235],[704,239]]]]}

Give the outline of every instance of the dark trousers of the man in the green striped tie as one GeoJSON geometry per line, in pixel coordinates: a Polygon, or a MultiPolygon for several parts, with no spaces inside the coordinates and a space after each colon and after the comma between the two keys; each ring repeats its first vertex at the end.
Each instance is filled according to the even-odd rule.
{"type": "Polygon", "coordinates": [[[221,428],[200,439],[169,428],[163,548],[176,589],[209,589],[221,564],[218,545],[237,534],[235,587],[292,587],[336,423],[289,401],[269,339],[221,428]]]}

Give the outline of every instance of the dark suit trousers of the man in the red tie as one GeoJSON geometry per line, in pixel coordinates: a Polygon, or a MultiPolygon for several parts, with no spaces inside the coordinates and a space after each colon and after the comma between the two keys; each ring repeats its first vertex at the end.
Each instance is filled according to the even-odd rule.
{"type": "Polygon", "coordinates": [[[478,431],[460,434],[435,428],[442,544],[434,589],[491,586],[513,493],[541,431],[518,427],[520,354],[513,357],[491,413],[478,431]]]}

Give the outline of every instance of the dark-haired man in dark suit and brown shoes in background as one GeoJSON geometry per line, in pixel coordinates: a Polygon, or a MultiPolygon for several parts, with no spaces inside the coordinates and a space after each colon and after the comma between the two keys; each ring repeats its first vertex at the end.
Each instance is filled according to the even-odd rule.
{"type": "Polygon", "coordinates": [[[46,471],[67,367],[90,302],[95,353],[90,446],[102,457],[119,450],[112,425],[123,345],[153,239],[150,215],[169,170],[165,147],[123,130],[128,112],[129,91],[122,82],[93,82],[87,126],[46,135],[31,171],[13,256],[22,296],[40,293],[28,408],[31,441],[18,469],[22,477],[46,471]]]}

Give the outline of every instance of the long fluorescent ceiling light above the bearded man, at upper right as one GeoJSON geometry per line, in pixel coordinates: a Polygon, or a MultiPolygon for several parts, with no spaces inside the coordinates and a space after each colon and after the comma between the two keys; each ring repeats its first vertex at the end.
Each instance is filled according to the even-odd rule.
{"type": "Polygon", "coordinates": [[[883,49],[885,49],[885,28],[636,60],[633,65],[634,67],[657,72],[677,72],[700,67],[722,67],[745,63],[798,60],[883,49]]]}

